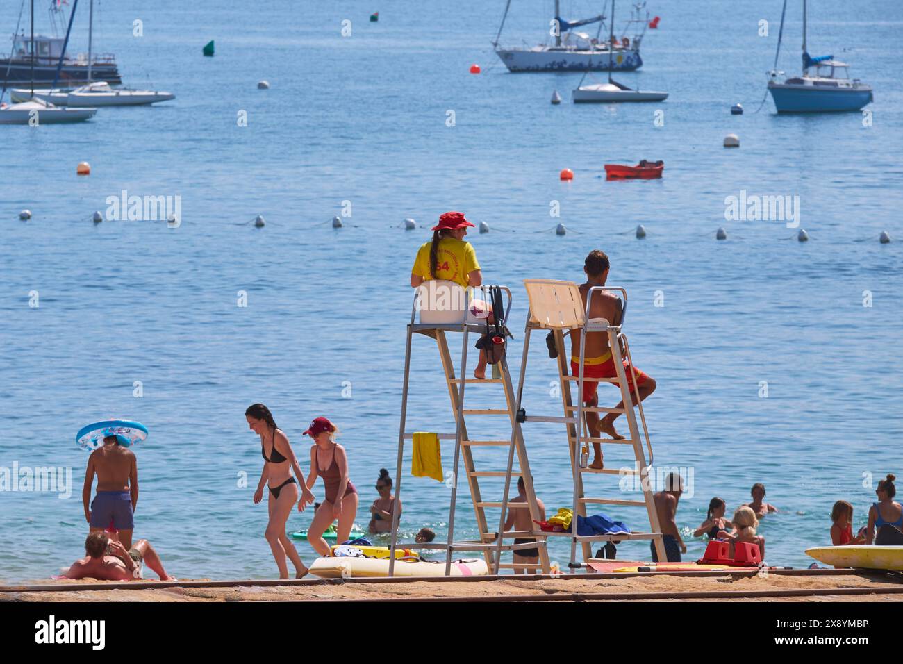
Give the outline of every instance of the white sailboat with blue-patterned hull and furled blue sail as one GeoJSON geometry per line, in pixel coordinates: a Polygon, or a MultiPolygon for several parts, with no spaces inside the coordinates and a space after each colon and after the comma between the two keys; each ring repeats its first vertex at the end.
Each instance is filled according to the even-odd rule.
{"type": "MultiPolygon", "coordinates": [[[[508,2],[510,5],[510,2],[508,2]]],[[[612,30],[608,43],[600,43],[597,39],[591,39],[587,33],[577,32],[575,28],[592,23],[600,23],[605,20],[605,14],[599,14],[580,21],[565,21],[561,17],[561,3],[555,0],[554,24],[557,26],[553,46],[539,44],[532,48],[499,48],[498,38],[505,26],[507,7],[502,23],[498,27],[496,41],[493,42],[496,54],[505,63],[508,71],[604,71],[606,69],[618,71],[634,71],[643,65],[643,59],[639,55],[639,44],[643,40],[648,25],[647,17],[641,18],[640,12],[646,3],[636,5],[635,16],[628,21],[625,32],[630,25],[637,25],[638,33],[630,39],[626,35],[621,39],[614,39],[612,30]],[[639,30],[639,25],[642,30],[639,30]],[[613,57],[605,59],[600,55],[610,53],[613,57]]]]}

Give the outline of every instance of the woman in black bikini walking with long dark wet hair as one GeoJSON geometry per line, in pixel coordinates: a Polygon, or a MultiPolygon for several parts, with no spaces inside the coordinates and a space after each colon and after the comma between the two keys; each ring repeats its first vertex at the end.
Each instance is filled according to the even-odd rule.
{"type": "Polygon", "coordinates": [[[285,564],[285,556],[288,556],[292,559],[294,577],[300,579],[307,574],[307,567],[301,562],[292,541],[285,536],[285,523],[292,513],[294,501],[298,500],[298,482],[292,477],[292,471],[301,479],[302,495],[298,501],[298,510],[303,511],[304,505],[313,502],[313,494],[304,485],[304,475],[294,458],[292,446],[284,433],[276,428],[270,409],[263,404],[254,404],[245,411],[245,419],[251,431],[260,436],[261,454],[264,456],[264,470],[260,473],[260,482],[257,482],[257,491],[254,492],[254,504],[264,500],[264,485],[267,484],[270,519],[266,524],[266,541],[273,550],[276,566],[279,567],[279,578],[288,578],[288,566],[285,564]]]}

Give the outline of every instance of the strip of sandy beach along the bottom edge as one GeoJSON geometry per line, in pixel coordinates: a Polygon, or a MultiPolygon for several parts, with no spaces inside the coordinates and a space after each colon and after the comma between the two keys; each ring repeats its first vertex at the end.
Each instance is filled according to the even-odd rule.
{"type": "Polygon", "coordinates": [[[898,577],[853,570],[792,570],[767,575],[619,574],[468,581],[303,579],[182,580],[176,584],[48,581],[0,587],[0,602],[899,602],[898,577]],[[47,589],[42,590],[41,586],[47,589]],[[92,589],[87,589],[92,588],[92,589]]]}

